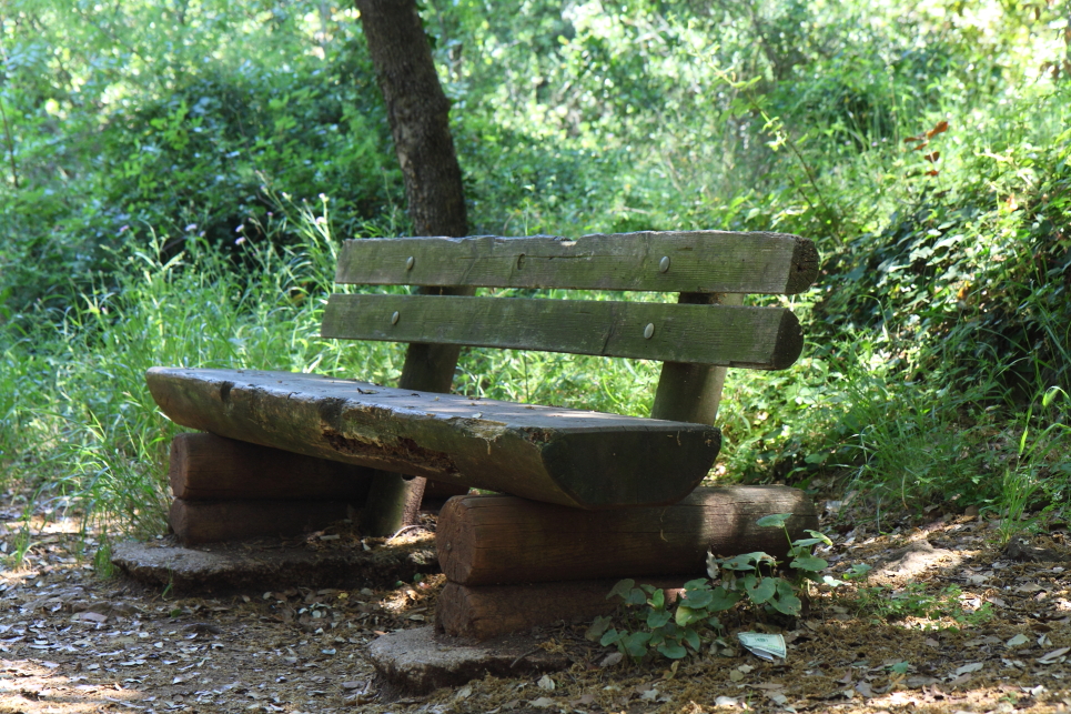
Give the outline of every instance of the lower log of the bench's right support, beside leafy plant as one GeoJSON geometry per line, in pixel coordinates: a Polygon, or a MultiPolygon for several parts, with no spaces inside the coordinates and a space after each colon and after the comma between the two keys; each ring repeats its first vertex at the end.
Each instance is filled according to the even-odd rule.
{"type": "MultiPolygon", "coordinates": [[[[684,590],[679,580],[640,577],[660,587],[667,604],[676,603],[684,590]]],[[[616,580],[585,580],[526,585],[466,586],[447,582],[435,605],[435,627],[456,637],[487,640],[560,622],[589,622],[613,613],[619,599],[607,600],[616,580]]]]}

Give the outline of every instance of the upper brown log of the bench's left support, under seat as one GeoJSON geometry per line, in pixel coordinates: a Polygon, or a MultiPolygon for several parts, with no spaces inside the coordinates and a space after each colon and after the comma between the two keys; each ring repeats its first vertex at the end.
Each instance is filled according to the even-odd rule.
{"type": "Polygon", "coordinates": [[[175,499],[332,499],[363,501],[370,469],[257,446],[215,434],[179,434],[171,441],[175,499]]]}

